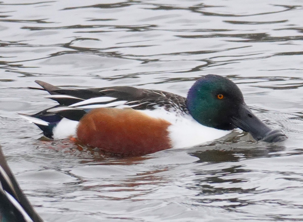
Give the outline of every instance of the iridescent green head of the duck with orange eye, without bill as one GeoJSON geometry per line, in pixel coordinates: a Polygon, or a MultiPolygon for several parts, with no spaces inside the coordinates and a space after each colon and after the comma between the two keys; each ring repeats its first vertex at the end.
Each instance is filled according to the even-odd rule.
{"type": "Polygon", "coordinates": [[[191,116],[202,125],[216,129],[236,128],[231,117],[243,104],[243,95],[237,85],[217,75],[202,77],[187,95],[187,108],[191,116]]]}

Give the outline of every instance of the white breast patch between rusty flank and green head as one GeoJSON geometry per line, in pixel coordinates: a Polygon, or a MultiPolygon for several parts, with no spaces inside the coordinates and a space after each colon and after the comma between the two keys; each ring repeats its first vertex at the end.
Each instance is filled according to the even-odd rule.
{"type": "Polygon", "coordinates": [[[163,108],[155,110],[138,110],[148,116],[165,119],[171,123],[168,127],[169,137],[173,148],[186,148],[219,139],[232,130],[215,129],[203,126],[191,116],[180,116],[163,108]]]}

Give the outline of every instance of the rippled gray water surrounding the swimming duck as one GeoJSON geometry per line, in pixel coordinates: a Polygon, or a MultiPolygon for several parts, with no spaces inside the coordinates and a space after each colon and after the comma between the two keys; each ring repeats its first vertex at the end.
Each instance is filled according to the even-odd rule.
{"type": "Polygon", "coordinates": [[[46,221],[302,221],[301,0],[0,3],[0,142],[46,221]],[[238,84],[288,140],[240,133],[208,146],[95,158],[38,140],[16,113],[56,103],[28,89],[135,86],[185,96],[206,74],[238,84]]]}

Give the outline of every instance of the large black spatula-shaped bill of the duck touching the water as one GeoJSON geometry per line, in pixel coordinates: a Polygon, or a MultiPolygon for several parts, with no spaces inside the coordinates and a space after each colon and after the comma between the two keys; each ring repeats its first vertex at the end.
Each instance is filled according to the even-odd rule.
{"type": "Polygon", "coordinates": [[[233,123],[236,127],[249,132],[257,141],[280,142],[287,138],[281,130],[272,130],[265,125],[246,104],[240,107],[238,116],[233,117],[233,123]]]}

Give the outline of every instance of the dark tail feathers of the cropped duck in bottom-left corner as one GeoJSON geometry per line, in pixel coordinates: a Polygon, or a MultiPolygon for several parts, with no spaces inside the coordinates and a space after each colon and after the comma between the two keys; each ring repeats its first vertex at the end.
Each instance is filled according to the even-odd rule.
{"type": "Polygon", "coordinates": [[[0,221],[43,222],[19,187],[0,146],[0,221]]]}

